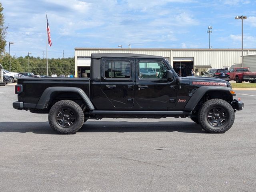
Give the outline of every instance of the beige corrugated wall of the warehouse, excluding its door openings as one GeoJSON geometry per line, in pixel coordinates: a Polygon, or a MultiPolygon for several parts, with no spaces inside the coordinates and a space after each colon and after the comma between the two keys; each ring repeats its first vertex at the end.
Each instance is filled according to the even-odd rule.
{"type": "MultiPolygon", "coordinates": [[[[173,58],[193,58],[195,65],[223,68],[241,63],[240,49],[142,49],[142,48],[75,48],[75,71],[77,58],[90,57],[92,53],[134,53],[165,57],[173,66],[173,58]]],[[[256,49],[244,49],[244,55],[256,54],[256,49]]]]}

